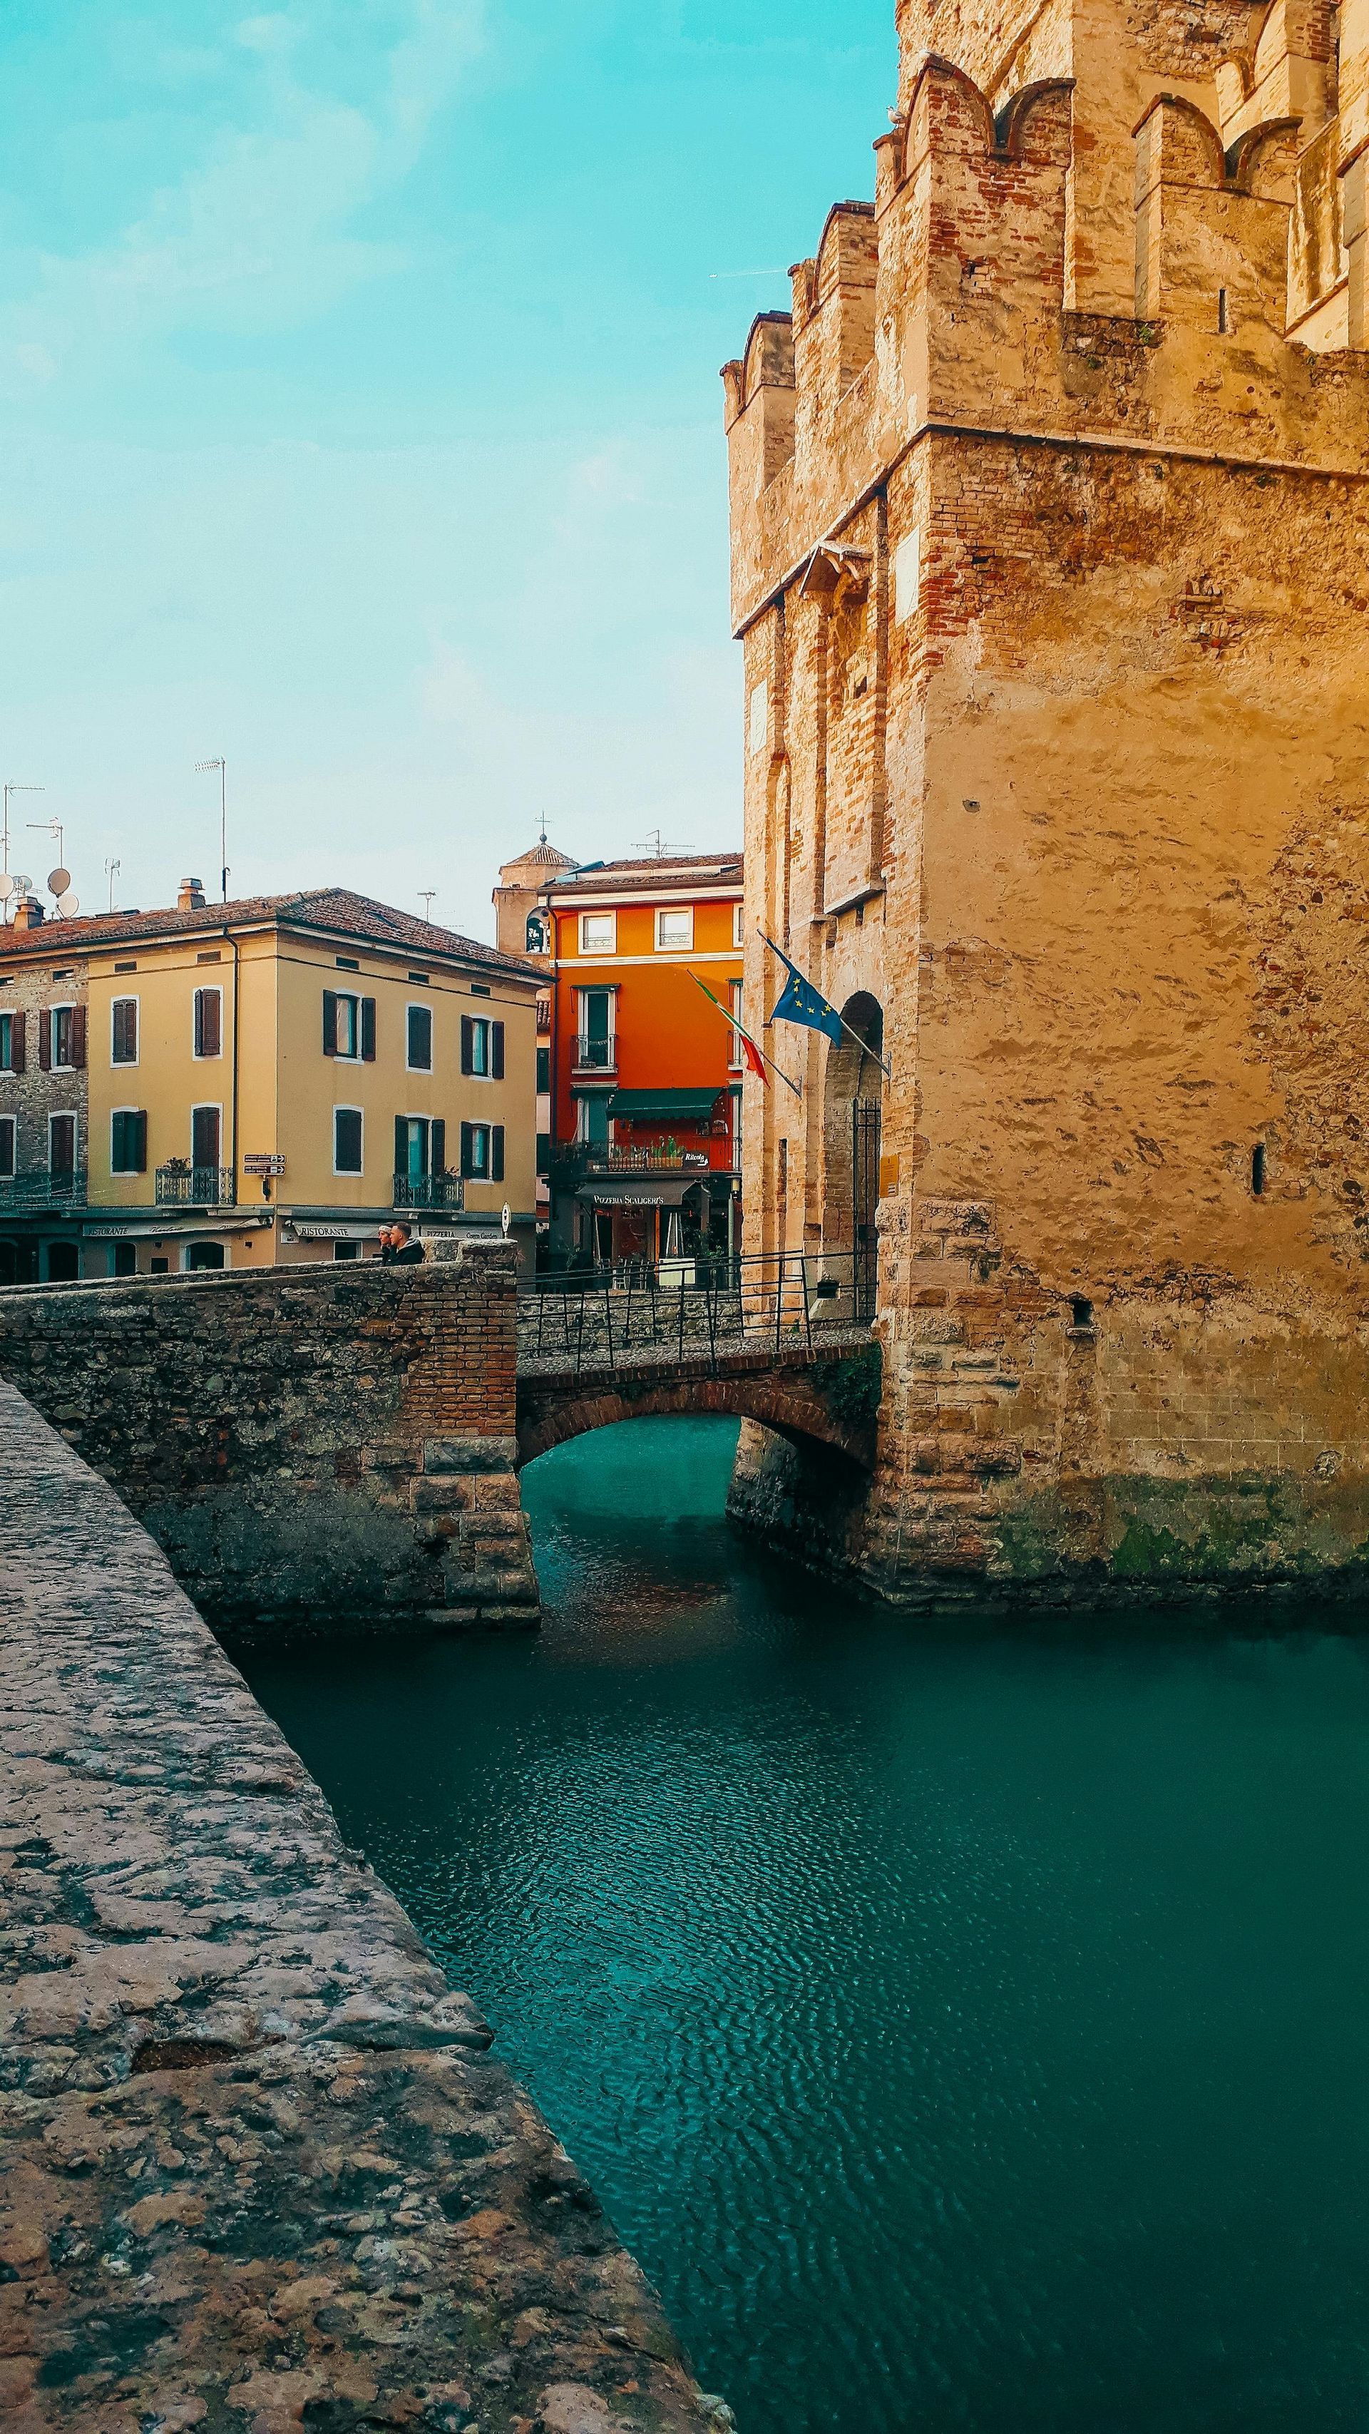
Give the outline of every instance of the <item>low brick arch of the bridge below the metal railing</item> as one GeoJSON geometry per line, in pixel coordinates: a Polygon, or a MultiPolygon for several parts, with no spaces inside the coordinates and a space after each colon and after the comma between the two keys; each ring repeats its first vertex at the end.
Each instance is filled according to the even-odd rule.
{"type": "Polygon", "coordinates": [[[832,1412],[819,1385],[812,1383],[812,1370],[766,1370],[739,1378],[622,1378],[618,1383],[601,1378],[593,1385],[584,1380],[520,1380],[518,1468],[523,1470],[537,1456],[567,1446],[571,1436],[586,1436],[591,1429],[613,1429],[620,1419],[661,1414],[754,1419],[800,1451],[836,1453],[841,1468],[868,1473],[875,1463],[871,1424],[846,1421],[832,1412]]]}

